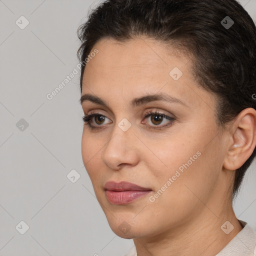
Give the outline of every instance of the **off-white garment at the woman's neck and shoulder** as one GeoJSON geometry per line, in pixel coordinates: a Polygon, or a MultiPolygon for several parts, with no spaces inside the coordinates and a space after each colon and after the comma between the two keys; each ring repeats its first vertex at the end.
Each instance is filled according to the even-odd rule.
{"type": "MultiPolygon", "coordinates": [[[[256,256],[256,234],[247,222],[238,220],[242,230],[215,256],[256,256]]],[[[124,256],[137,256],[135,245],[124,256]]]]}

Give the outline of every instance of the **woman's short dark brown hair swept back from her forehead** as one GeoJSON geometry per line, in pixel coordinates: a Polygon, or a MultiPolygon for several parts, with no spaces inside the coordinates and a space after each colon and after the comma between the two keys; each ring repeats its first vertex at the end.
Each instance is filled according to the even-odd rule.
{"type": "MultiPolygon", "coordinates": [[[[199,85],[217,96],[219,127],[225,127],[244,108],[256,109],[252,96],[256,93],[256,28],[235,0],[106,0],[89,13],[77,34],[81,62],[102,38],[125,41],[146,35],[188,50],[199,85]]],[[[81,92],[84,68],[85,64],[81,92]]],[[[254,148],[235,170],[232,199],[255,154],[254,148]]]]}

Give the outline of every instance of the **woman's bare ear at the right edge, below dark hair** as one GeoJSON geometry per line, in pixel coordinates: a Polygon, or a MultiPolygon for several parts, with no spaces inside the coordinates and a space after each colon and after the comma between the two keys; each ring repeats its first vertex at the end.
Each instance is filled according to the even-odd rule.
{"type": "Polygon", "coordinates": [[[236,170],[243,165],[255,148],[256,110],[251,107],[243,109],[232,122],[230,131],[230,146],[223,167],[236,170]]]}

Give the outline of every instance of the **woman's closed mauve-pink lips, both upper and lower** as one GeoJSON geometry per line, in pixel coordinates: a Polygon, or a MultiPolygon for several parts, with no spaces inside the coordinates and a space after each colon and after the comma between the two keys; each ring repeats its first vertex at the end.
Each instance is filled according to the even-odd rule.
{"type": "Polygon", "coordinates": [[[105,183],[104,188],[106,190],[106,197],[112,204],[129,203],[152,191],[150,188],[142,187],[126,181],[118,183],[108,181],[105,183]]]}

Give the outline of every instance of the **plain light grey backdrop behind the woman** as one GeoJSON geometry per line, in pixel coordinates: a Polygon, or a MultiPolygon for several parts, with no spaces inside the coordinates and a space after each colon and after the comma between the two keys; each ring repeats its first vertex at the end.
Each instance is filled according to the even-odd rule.
{"type": "MultiPolygon", "coordinates": [[[[1,256],[119,256],[133,245],[111,231],[83,167],[79,73],[46,98],[77,65],[76,29],[98,2],[0,0],[1,256]]],[[[241,3],[256,20],[256,0],[241,3]]],[[[255,183],[254,162],[234,211],[256,231],[255,183]]]]}

